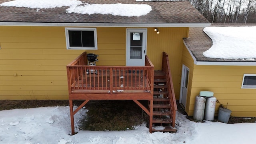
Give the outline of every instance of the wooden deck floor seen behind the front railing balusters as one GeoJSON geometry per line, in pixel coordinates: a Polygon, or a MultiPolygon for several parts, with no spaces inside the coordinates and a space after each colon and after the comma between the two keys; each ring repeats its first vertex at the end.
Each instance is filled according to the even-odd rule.
{"type": "Polygon", "coordinates": [[[110,78],[109,70],[97,70],[89,74],[83,74],[80,80],[75,83],[73,92],[76,89],[90,89],[90,90],[109,90],[110,79],[113,82],[113,90],[116,92],[126,92],[127,90],[144,89],[150,90],[150,83],[146,80],[143,70],[131,72],[128,70],[112,70],[112,78],[110,78]],[[126,89],[126,90],[124,90],[126,89]]]}

